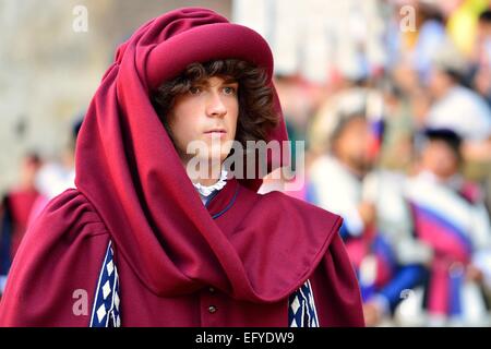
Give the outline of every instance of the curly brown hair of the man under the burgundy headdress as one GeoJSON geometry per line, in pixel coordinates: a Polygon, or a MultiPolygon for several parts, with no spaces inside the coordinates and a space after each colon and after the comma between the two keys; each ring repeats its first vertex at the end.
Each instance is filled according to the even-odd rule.
{"type": "Polygon", "coordinates": [[[191,63],[173,80],[161,84],[151,96],[155,111],[169,132],[166,120],[172,109],[176,96],[206,79],[220,76],[239,83],[239,118],[236,140],[246,146],[247,141],[267,142],[268,132],[278,123],[278,115],[273,106],[273,89],[268,86],[264,69],[238,59],[213,60],[191,63]]]}

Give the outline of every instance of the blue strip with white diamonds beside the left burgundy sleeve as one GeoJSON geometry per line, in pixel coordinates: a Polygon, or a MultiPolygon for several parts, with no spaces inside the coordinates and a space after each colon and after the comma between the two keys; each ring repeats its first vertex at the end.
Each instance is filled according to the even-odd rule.
{"type": "Polygon", "coordinates": [[[109,241],[94,297],[89,327],[120,327],[119,275],[109,241]]]}

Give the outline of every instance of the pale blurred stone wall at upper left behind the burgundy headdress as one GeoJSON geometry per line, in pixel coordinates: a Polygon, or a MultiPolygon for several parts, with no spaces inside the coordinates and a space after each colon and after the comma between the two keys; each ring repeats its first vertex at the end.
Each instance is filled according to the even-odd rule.
{"type": "Polygon", "coordinates": [[[29,149],[59,156],[119,43],[152,17],[193,5],[230,17],[230,0],[0,1],[0,192],[16,182],[29,149]],[[87,10],[86,32],[73,29],[77,5],[87,10]]]}

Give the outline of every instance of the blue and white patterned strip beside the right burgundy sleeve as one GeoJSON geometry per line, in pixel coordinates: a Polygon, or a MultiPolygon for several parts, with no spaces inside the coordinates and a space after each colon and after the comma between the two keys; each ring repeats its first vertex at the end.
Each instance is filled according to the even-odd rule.
{"type": "Polygon", "coordinates": [[[288,304],[289,327],[319,327],[314,296],[309,280],[289,297],[288,304]]]}

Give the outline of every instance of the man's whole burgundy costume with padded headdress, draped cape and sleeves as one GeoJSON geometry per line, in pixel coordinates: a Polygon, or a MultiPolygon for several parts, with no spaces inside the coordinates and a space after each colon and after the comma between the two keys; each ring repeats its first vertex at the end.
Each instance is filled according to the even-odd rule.
{"type": "MultiPolygon", "coordinates": [[[[307,279],[321,326],[363,325],[340,217],[260,195],[260,180],[229,180],[205,207],[189,180],[148,95],[187,64],[220,58],[265,67],[271,83],[264,39],[206,9],[166,13],[119,47],[79,135],[76,189],[26,233],[0,325],[87,326],[109,241],[122,326],[288,326],[288,297],[307,279]],[[76,290],[86,314],[73,311],[76,290]]],[[[270,139],[287,140],[275,103],[282,122],[270,139]]]]}

